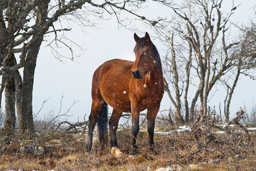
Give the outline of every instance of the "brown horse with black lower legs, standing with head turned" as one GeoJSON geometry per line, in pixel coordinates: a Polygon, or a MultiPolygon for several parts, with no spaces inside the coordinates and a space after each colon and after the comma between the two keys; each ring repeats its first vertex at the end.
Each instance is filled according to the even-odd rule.
{"type": "Polygon", "coordinates": [[[131,112],[131,154],[137,151],[139,112],[147,109],[147,133],[149,148],[154,152],[154,127],[164,93],[161,60],[157,48],[146,32],[144,38],[134,34],[135,62],[113,59],[103,63],[93,75],[92,104],[89,116],[87,150],[91,150],[93,130],[98,122],[99,141],[107,140],[107,104],[113,107],[109,121],[110,144],[117,145],[117,127],[122,112],[131,112]]]}

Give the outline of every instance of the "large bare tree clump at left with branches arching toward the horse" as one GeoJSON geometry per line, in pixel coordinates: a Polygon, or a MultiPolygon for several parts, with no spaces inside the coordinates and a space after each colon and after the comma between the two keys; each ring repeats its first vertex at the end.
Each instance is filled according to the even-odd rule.
{"type": "MultiPolygon", "coordinates": [[[[94,18],[103,18],[103,12],[114,14],[119,23],[119,11],[131,14],[139,8],[143,1],[102,1],[94,3],[90,0],[15,0],[0,1],[0,64],[2,70],[1,95],[5,89],[6,120],[3,130],[13,133],[15,127],[15,103],[17,106],[18,128],[23,135],[33,135],[33,84],[37,55],[46,34],[55,34],[70,29],[60,27],[57,23],[69,22],[72,18],[83,27],[95,26],[94,18]],[[57,25],[60,28],[55,28],[57,25]],[[53,28],[52,30],[50,28],[53,28]],[[18,56],[19,55],[19,56],[18,56]],[[19,57],[19,59],[18,59],[19,57]],[[18,61],[18,62],[16,62],[18,61]],[[23,67],[23,78],[18,69],[23,67]]],[[[139,16],[137,16],[139,17],[139,16]]],[[[67,46],[67,44],[65,44],[67,46]]],[[[71,59],[73,59],[73,50],[71,59]]]]}

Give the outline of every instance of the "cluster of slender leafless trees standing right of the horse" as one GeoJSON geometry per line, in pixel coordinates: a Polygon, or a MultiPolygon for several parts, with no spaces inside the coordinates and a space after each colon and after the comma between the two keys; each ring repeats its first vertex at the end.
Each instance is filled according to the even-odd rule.
{"type": "MultiPolygon", "coordinates": [[[[241,61],[245,59],[241,55],[240,59],[235,58],[237,53],[234,53],[234,49],[241,43],[239,35],[227,39],[232,28],[229,19],[237,6],[231,1],[230,11],[226,13],[222,10],[223,1],[187,0],[181,5],[168,1],[158,2],[169,7],[175,14],[170,20],[160,18],[151,27],[168,49],[164,72],[166,85],[171,83],[170,89],[174,89],[175,100],[170,91],[169,97],[178,116],[185,113],[185,121],[193,121],[198,100],[200,115],[207,115],[207,103],[214,95],[213,87],[225,80],[225,75],[235,73],[235,76],[231,76],[234,83],[227,97],[227,104],[230,104],[242,72],[241,61]],[[192,97],[190,101],[188,94],[192,97]],[[182,96],[184,100],[181,100],[182,96]]],[[[182,123],[181,119],[177,121],[182,123]]]]}

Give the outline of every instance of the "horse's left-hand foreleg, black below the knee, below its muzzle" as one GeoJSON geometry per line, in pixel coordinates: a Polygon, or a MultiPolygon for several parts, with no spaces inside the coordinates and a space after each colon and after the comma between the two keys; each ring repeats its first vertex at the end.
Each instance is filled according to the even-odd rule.
{"type": "Polygon", "coordinates": [[[139,133],[139,111],[135,108],[131,110],[131,151],[130,154],[135,154],[138,151],[138,146],[136,145],[137,135],[139,133]]]}

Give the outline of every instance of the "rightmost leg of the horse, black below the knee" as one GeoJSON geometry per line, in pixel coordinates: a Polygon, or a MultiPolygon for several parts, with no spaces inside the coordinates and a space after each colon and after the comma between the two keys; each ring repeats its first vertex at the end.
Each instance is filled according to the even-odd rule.
{"type": "Polygon", "coordinates": [[[155,128],[155,117],[157,117],[159,107],[147,109],[147,134],[149,140],[149,149],[151,152],[155,152],[154,149],[154,128],[155,128]]]}

